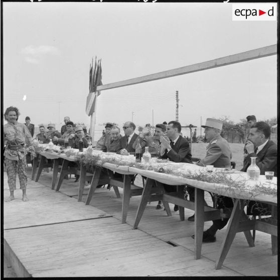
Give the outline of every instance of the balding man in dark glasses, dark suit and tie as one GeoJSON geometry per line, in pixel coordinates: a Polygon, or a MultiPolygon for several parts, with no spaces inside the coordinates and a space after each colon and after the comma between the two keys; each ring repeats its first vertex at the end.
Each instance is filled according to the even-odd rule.
{"type": "Polygon", "coordinates": [[[120,138],[121,150],[118,152],[120,155],[135,155],[135,149],[133,149],[133,143],[138,137],[138,134],[134,132],[136,126],[131,121],[126,121],[123,124],[124,136],[120,138]]]}

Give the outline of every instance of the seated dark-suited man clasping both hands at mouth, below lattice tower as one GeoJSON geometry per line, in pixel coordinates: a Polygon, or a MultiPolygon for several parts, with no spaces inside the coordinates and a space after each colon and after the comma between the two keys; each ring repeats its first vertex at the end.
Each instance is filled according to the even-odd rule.
{"type": "MultiPolygon", "coordinates": [[[[172,120],[167,126],[167,135],[160,137],[161,158],[169,159],[176,163],[192,163],[190,144],[180,135],[181,124],[172,120]]],[[[173,192],[174,186],[164,184],[166,192],[173,192]]],[[[178,205],[174,206],[174,211],[178,211],[178,205]]]]}

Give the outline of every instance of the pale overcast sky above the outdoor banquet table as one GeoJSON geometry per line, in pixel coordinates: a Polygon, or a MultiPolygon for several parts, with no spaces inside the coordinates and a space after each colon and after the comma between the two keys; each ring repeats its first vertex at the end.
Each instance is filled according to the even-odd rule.
{"type": "MultiPolygon", "coordinates": [[[[103,84],[276,44],[276,21],[232,21],[230,3],[3,3],[4,109],[20,121],[89,124],[92,57],[103,84]],[[26,100],[23,100],[26,95],[26,100]]],[[[105,90],[96,124],[276,116],[276,56],[105,90]]]]}

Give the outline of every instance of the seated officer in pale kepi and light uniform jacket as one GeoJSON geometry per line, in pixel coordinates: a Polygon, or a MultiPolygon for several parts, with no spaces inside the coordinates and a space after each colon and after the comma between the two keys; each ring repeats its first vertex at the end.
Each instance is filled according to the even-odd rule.
{"type": "MultiPolygon", "coordinates": [[[[204,127],[204,133],[209,141],[206,148],[206,157],[197,162],[199,166],[213,165],[217,168],[231,168],[230,160],[232,157],[230,147],[226,139],[220,133],[223,127],[223,122],[214,118],[207,118],[204,127]]],[[[190,194],[190,200],[194,201],[194,188],[187,187],[190,194]]],[[[225,196],[218,196],[217,208],[231,208],[233,203],[231,198],[225,196]]],[[[194,221],[194,216],[189,217],[190,221],[194,221]]],[[[228,219],[214,220],[213,225],[203,232],[203,242],[215,242],[215,234],[218,229],[222,229],[228,222],[228,219]]],[[[194,235],[192,236],[194,238],[194,235]]]]}

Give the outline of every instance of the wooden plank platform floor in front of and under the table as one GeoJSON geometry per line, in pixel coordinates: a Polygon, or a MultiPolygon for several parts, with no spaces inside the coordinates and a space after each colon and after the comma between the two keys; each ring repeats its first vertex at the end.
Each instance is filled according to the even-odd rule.
{"type": "MultiPolygon", "coordinates": [[[[172,204],[171,217],[162,209],[156,210],[156,202],[148,204],[138,229],[132,230],[140,197],[130,199],[127,223],[121,224],[121,199],[112,189],[96,189],[91,206],[85,206],[88,189],[84,190],[83,202],[78,203],[78,183],[73,178],[64,180],[60,192],[55,192],[50,189],[51,176],[52,172],[44,172],[39,182],[29,182],[29,202],[21,201],[21,190],[16,190],[17,200],[4,203],[7,247],[29,275],[277,275],[277,256],[271,255],[267,234],[257,232],[256,246],[249,248],[243,233],[238,233],[224,265],[215,270],[223,230],[217,233],[217,242],[203,244],[202,258],[195,260],[190,237],[194,223],[180,221],[172,204]]],[[[4,183],[6,197],[6,177],[4,183]]],[[[122,189],[119,191],[122,196],[122,189]]],[[[192,214],[185,209],[186,217],[192,214]]],[[[205,228],[209,225],[211,222],[206,222],[205,228]]]]}

